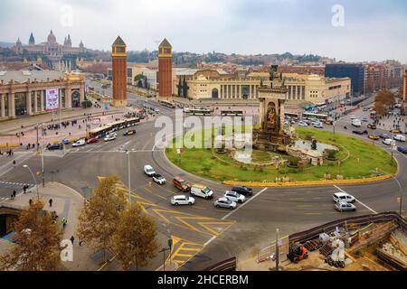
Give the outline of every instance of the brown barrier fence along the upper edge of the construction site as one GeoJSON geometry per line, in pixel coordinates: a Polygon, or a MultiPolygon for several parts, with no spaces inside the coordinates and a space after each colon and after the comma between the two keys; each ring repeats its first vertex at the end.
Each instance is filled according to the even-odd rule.
{"type": "MultiPolygon", "coordinates": [[[[344,227],[346,224],[357,224],[359,226],[370,225],[372,223],[383,223],[391,220],[397,220],[402,229],[407,229],[407,220],[402,219],[399,214],[395,212],[384,212],[376,215],[365,215],[359,217],[351,217],[347,219],[338,219],[327,224],[318,226],[316,228],[310,228],[306,231],[289,235],[289,238],[281,239],[280,252],[289,251],[289,244],[292,243],[305,243],[311,239],[318,238],[322,233],[331,233],[336,230],[337,227],[344,227]]],[[[258,253],[258,263],[270,260],[270,256],[275,252],[275,243],[269,247],[262,248],[258,253]]],[[[281,260],[281,257],[280,257],[281,260]]],[[[281,260],[283,261],[283,260],[281,260]]]]}

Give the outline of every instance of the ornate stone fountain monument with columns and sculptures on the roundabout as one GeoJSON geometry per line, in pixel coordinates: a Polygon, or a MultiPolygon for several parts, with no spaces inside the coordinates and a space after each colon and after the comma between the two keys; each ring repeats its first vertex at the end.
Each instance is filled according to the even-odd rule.
{"type": "Polygon", "coordinates": [[[286,152],[292,139],[284,131],[284,102],[288,89],[284,85],[279,66],[270,67],[270,86],[261,85],[260,129],[253,130],[253,146],[263,151],[286,152]]]}

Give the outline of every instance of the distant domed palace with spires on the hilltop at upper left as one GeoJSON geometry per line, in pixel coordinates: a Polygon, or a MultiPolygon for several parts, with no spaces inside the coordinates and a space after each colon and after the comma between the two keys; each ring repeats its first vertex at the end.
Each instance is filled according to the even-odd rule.
{"type": "Polygon", "coordinates": [[[15,53],[21,54],[24,51],[32,54],[45,54],[52,58],[62,58],[64,55],[80,54],[87,51],[83,42],[80,41],[79,47],[72,47],[71,35],[65,37],[63,44],[57,42],[55,34],[51,31],[47,37],[47,42],[35,44],[33,33],[31,33],[28,45],[24,45],[20,38],[15,42],[13,50],[15,53]]]}

